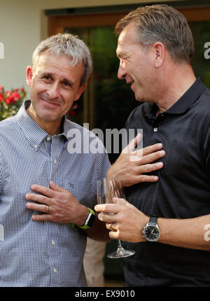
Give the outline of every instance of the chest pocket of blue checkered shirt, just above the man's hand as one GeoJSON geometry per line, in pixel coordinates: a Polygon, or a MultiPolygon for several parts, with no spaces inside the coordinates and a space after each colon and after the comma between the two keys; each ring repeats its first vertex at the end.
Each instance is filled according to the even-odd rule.
{"type": "Polygon", "coordinates": [[[87,181],[69,181],[70,193],[86,207],[93,208],[97,204],[97,183],[87,181]]]}

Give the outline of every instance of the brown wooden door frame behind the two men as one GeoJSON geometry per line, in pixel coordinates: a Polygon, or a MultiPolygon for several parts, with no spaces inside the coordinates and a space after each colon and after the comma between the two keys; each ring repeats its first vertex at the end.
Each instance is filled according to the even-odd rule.
{"type": "MultiPolygon", "coordinates": [[[[176,7],[188,20],[207,21],[210,20],[210,5],[201,7],[176,7]]],[[[116,23],[127,15],[129,11],[120,12],[94,12],[76,13],[69,15],[48,15],[48,36],[64,33],[65,28],[85,27],[106,27],[115,26],[116,23]]],[[[93,79],[90,76],[87,88],[83,92],[83,123],[89,123],[90,130],[94,127],[94,89],[93,79]]]]}

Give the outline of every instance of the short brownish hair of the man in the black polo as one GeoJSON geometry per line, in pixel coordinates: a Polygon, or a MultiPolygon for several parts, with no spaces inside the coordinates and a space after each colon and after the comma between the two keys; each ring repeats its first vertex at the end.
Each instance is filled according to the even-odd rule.
{"type": "Polygon", "coordinates": [[[195,52],[193,34],[186,18],[172,6],[154,4],[132,10],[116,25],[120,34],[131,22],[136,29],[136,41],[143,46],[161,42],[174,62],[188,62],[195,52]]]}

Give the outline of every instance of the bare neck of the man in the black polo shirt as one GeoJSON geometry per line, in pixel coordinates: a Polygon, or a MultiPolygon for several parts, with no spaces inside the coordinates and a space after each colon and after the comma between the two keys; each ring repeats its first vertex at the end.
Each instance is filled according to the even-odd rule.
{"type": "MultiPolygon", "coordinates": [[[[162,88],[159,88],[157,97],[158,113],[167,111],[183,94],[195,83],[195,74],[190,65],[175,65],[162,75],[162,88]]],[[[160,85],[161,87],[161,85],[160,85]]]]}

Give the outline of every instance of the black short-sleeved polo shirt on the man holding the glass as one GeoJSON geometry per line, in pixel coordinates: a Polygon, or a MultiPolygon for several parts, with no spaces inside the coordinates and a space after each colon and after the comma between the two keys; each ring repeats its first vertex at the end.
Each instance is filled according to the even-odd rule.
{"type": "MultiPolygon", "coordinates": [[[[144,103],[126,123],[127,129],[143,129],[144,147],[161,142],[166,151],[160,160],[164,167],[151,173],[159,181],[127,188],[127,200],[147,216],[210,214],[210,90],[197,78],[179,101],[155,117],[157,109],[144,103]]],[[[127,286],[210,286],[210,251],[159,242],[123,245],[136,251],[123,258],[127,286]]]]}

